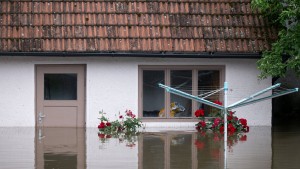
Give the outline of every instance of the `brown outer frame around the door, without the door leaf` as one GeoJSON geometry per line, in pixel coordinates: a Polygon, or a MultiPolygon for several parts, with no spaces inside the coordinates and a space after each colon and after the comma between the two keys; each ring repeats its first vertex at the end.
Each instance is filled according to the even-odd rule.
{"type": "Polygon", "coordinates": [[[84,69],[83,72],[83,81],[84,81],[84,88],[83,88],[83,126],[82,127],[86,127],[86,64],[35,64],[34,67],[34,71],[35,71],[35,77],[34,77],[34,84],[35,84],[35,127],[41,127],[39,126],[39,121],[38,121],[38,88],[37,88],[37,68],[38,67],[62,67],[62,66],[71,66],[71,67],[78,67],[78,66],[82,66],[84,69]]]}

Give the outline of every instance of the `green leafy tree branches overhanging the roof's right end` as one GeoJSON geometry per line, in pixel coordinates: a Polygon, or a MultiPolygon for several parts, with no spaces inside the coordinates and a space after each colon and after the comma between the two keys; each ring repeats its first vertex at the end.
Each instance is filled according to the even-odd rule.
{"type": "Polygon", "coordinates": [[[282,77],[287,70],[300,75],[300,0],[252,0],[253,9],[272,21],[278,40],[258,61],[260,78],[282,77]]]}

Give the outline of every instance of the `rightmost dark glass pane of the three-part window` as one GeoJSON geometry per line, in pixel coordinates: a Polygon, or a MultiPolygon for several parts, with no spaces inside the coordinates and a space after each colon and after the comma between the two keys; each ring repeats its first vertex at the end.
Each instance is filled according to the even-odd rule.
{"type": "MultiPolygon", "coordinates": [[[[220,88],[220,72],[218,70],[201,70],[198,71],[198,95],[217,90],[220,88]]],[[[205,99],[210,101],[219,100],[220,92],[205,99]]],[[[198,108],[204,109],[205,116],[210,116],[210,112],[216,111],[211,106],[198,103],[198,108]]]]}

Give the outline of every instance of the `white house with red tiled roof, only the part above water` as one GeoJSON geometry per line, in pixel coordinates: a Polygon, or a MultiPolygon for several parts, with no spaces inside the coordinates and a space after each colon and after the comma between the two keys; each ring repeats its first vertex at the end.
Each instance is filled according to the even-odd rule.
{"type": "MultiPolygon", "coordinates": [[[[272,84],[256,62],[276,31],[250,0],[14,0],[0,13],[0,126],[95,127],[99,111],[130,109],[146,127],[193,127],[211,108],[158,83],[201,95],[226,81],[229,104],[272,84]]],[[[271,100],[236,114],[270,126],[271,100]]]]}

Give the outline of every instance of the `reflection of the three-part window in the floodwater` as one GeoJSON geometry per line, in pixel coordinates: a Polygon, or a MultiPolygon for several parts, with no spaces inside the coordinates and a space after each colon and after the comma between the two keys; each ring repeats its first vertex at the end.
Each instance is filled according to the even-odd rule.
{"type": "Polygon", "coordinates": [[[143,133],[139,142],[139,158],[142,160],[139,169],[222,168],[223,161],[219,158],[221,141],[209,144],[213,134],[184,131],[143,133]]]}

